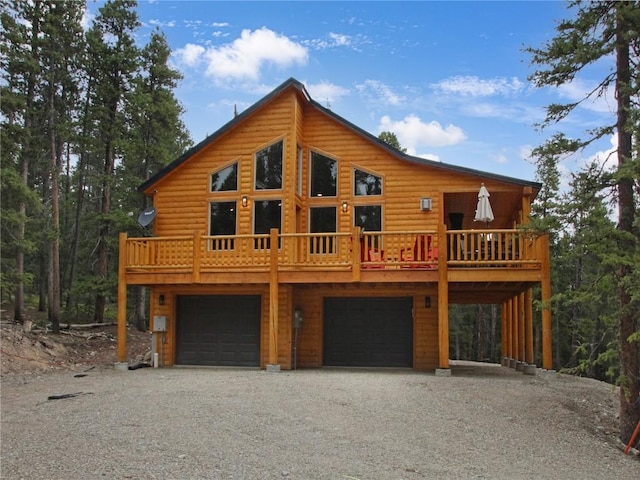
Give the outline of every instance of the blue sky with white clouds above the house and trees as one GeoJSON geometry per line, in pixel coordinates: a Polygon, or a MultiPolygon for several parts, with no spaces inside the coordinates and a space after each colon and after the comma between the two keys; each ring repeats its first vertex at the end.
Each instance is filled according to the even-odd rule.
{"type": "MultiPolygon", "coordinates": [[[[88,2],[90,21],[102,1],[88,2]]],[[[539,132],[544,106],[581,98],[611,69],[535,89],[525,46],[540,47],[571,13],[538,2],[210,2],[139,0],[141,45],[159,27],[184,79],[176,94],[194,142],[289,77],[364,130],[394,132],[408,153],[533,180],[531,149],[561,130],[611,123],[615,102],[586,102],[539,132]]],[[[610,141],[587,157],[606,155],[610,141]]],[[[583,158],[566,159],[576,170],[583,158]]]]}

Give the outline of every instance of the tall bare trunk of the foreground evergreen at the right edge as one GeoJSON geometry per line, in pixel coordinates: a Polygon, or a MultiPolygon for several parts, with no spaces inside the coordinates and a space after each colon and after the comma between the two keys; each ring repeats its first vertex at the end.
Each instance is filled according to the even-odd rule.
{"type": "MultiPolygon", "coordinates": [[[[625,38],[627,21],[623,15],[624,5],[616,4],[616,96],[618,100],[618,171],[623,172],[618,180],[618,229],[621,231],[620,255],[627,257],[638,248],[638,238],[633,234],[635,205],[633,201],[633,179],[624,172],[632,158],[632,135],[629,118],[631,108],[631,71],[629,40],[625,38]]],[[[636,313],[631,307],[630,286],[627,277],[632,275],[632,263],[626,262],[619,270],[620,300],[620,438],[626,444],[640,419],[640,376],[638,367],[638,343],[629,338],[637,333],[636,313]]]]}

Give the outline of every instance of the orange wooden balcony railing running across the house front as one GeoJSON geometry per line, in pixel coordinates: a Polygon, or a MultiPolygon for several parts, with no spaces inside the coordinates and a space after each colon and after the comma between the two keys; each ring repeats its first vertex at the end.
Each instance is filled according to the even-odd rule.
{"type": "Polygon", "coordinates": [[[271,243],[278,244],[282,270],[435,269],[447,266],[521,267],[539,265],[539,238],[521,230],[437,232],[290,233],[271,235],[127,238],[124,267],[129,271],[198,269],[200,272],[268,271],[271,243]]]}

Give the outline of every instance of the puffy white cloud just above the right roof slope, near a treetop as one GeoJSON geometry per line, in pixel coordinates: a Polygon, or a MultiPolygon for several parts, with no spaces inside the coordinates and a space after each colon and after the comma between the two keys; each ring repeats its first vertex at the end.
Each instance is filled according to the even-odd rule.
{"type": "Polygon", "coordinates": [[[460,127],[455,125],[443,127],[435,120],[424,123],[416,115],[407,115],[400,121],[392,121],[385,115],[380,119],[378,130],[395,133],[400,145],[406,148],[407,152],[415,151],[419,146],[455,145],[467,138],[460,127]]]}

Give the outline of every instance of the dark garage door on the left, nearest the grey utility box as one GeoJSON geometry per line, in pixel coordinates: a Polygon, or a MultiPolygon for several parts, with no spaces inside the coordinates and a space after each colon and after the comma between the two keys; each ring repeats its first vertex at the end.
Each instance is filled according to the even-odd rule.
{"type": "Polygon", "coordinates": [[[176,363],[260,366],[260,296],[179,296],[176,363]]]}

